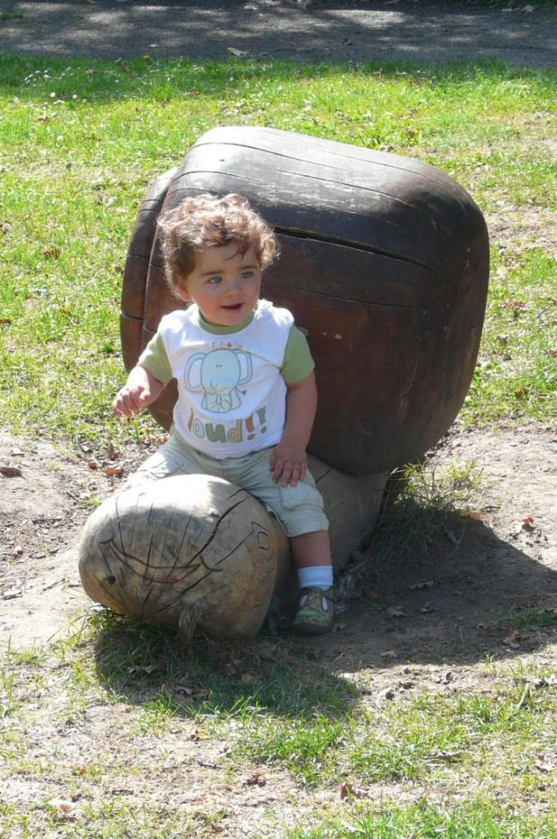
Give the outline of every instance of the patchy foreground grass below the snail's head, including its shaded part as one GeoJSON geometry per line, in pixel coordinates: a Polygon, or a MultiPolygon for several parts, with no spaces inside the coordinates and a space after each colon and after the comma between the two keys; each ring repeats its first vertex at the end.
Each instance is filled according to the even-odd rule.
{"type": "Polygon", "coordinates": [[[0,759],[13,784],[62,790],[0,803],[8,836],[212,835],[249,783],[272,796],[277,781],[294,811],[301,790],[305,804],[296,827],[281,825],[286,802],[269,813],[270,835],[557,835],[547,665],[491,664],[468,692],[376,701],[375,671],[354,685],[285,641],[191,655],[168,631],[94,611],[40,656],[8,653],[3,669],[0,759]],[[199,808],[186,779],[205,790],[199,808]]]}

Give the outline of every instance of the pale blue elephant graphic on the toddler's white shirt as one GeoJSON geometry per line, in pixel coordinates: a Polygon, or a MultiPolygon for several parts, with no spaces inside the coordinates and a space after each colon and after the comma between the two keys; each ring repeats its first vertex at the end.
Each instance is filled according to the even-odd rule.
{"type": "Polygon", "coordinates": [[[204,391],[201,405],[215,414],[227,414],[242,404],[239,389],[252,378],[252,356],[243,350],[218,349],[195,353],[186,364],[187,388],[204,391]]]}

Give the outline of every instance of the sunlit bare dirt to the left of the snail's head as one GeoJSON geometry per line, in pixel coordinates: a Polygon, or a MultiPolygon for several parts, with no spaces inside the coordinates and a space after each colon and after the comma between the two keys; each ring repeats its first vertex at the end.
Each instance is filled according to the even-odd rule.
{"type": "Polygon", "coordinates": [[[149,453],[130,446],[60,450],[0,434],[0,648],[33,646],[91,606],[79,582],[77,544],[93,506],[149,453]]]}

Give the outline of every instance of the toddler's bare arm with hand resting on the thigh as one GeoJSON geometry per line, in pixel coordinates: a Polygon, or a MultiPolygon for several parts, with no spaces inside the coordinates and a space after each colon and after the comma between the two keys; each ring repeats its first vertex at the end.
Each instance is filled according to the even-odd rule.
{"type": "Polygon", "coordinates": [[[309,442],[317,408],[314,373],[287,384],[287,422],[282,440],[270,456],[273,480],[282,486],[296,486],[307,470],[305,447],[309,442]]]}

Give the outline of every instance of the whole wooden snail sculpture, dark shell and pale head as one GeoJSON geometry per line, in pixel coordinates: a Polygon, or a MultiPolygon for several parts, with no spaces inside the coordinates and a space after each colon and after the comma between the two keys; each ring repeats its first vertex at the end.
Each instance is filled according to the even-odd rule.
{"type": "MultiPolygon", "coordinates": [[[[278,235],[263,296],[293,312],[314,355],[310,468],[338,569],[375,522],[391,471],[438,442],[464,402],[487,296],[482,212],[446,174],[404,157],[275,129],[208,131],[138,211],[121,304],[128,370],[178,308],[157,217],[200,192],[239,192],[278,235]]],[[[173,385],[149,407],[166,429],[173,385]]],[[[255,635],[273,594],[292,589],[278,522],[243,490],[202,476],[102,504],[79,567],[85,591],[115,611],[213,636],[255,635]]]]}

